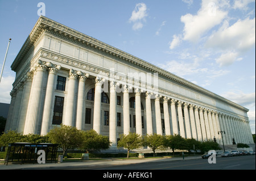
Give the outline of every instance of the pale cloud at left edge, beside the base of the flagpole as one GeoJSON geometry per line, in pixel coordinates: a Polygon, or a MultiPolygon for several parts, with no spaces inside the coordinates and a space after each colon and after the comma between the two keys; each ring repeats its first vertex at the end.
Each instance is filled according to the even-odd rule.
{"type": "Polygon", "coordinates": [[[15,77],[2,77],[1,83],[0,83],[0,103],[10,103],[11,102],[11,96],[10,92],[13,90],[12,83],[14,82],[15,77]]]}

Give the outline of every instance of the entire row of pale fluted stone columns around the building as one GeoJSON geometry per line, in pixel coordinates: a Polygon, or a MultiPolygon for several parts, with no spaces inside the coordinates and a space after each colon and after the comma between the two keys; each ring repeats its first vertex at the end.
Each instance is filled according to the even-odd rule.
{"type": "MultiPolygon", "coordinates": [[[[7,118],[6,130],[16,129],[23,134],[45,135],[49,132],[52,121],[51,110],[53,109],[53,92],[56,86],[57,72],[60,66],[47,64],[36,64],[33,74],[28,73],[23,79],[22,86],[17,86],[11,93],[11,105],[7,118]],[[48,71],[48,73],[47,73],[48,71]],[[48,77],[47,77],[48,75],[48,77]],[[47,78],[46,90],[43,93],[43,80],[47,78]]],[[[82,129],[82,121],[85,117],[85,85],[89,74],[81,71],[70,70],[65,99],[65,112],[63,124],[76,126],[82,129]]],[[[93,129],[101,133],[101,87],[106,80],[96,77],[93,111],[93,129]]],[[[109,139],[112,146],[117,145],[117,82],[110,82],[110,108],[109,108],[109,139]]],[[[123,86],[123,133],[130,132],[130,90],[127,85],[123,86]]],[[[249,121],[241,117],[225,112],[210,110],[206,107],[183,102],[163,95],[156,95],[152,92],[142,92],[141,89],[134,89],[135,94],[135,114],[136,133],[142,135],[142,115],[141,99],[142,94],[146,102],[146,133],[157,134],[180,134],[184,138],[195,138],[198,141],[215,140],[222,144],[232,144],[232,139],[236,142],[247,144],[253,143],[249,121]],[[152,104],[154,104],[152,110],[152,104]],[[160,104],[163,104],[163,112],[160,111],[160,104]],[[154,112],[154,114],[153,114],[154,112]],[[155,115],[155,117],[153,116],[155,115]],[[162,127],[162,117],[164,117],[164,128],[162,127]],[[163,132],[164,129],[164,132],[163,132]],[[224,134],[225,132],[225,134],[224,134]],[[222,136],[221,136],[222,133],[222,136]]]]}

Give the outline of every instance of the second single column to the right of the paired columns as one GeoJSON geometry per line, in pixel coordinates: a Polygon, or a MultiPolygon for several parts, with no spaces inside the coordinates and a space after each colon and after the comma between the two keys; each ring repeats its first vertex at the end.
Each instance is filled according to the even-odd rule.
{"type": "Polygon", "coordinates": [[[112,148],[117,147],[117,83],[110,82],[110,105],[109,105],[109,141],[112,148]]]}

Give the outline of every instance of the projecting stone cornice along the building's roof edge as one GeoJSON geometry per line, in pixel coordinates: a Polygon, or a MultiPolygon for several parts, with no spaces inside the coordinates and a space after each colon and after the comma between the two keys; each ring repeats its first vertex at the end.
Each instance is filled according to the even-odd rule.
{"type": "Polygon", "coordinates": [[[234,102],[231,102],[230,100],[225,99],[217,94],[214,94],[213,92],[210,92],[204,89],[203,87],[197,86],[194,83],[189,82],[181,77],[178,77],[175,74],[172,74],[164,69],[158,68],[157,66],[152,65],[149,62],[146,62],[138,57],[132,56],[129,53],[123,52],[122,50],[114,48],[106,43],[103,43],[102,41],[94,39],[93,37],[85,35],[84,33],[81,33],[79,31],[73,30],[72,28],[64,26],[63,24],[57,23],[44,16],[40,16],[34,28],[30,32],[30,35],[27,37],[25,43],[20,49],[13,64],[11,65],[12,70],[16,70],[20,61],[22,61],[23,57],[26,56],[26,53],[31,48],[33,48],[34,43],[36,42],[36,40],[38,40],[38,38],[40,37],[40,35],[42,35],[44,31],[54,33],[55,35],[72,41],[75,44],[81,45],[86,48],[90,48],[96,52],[100,52],[101,54],[115,58],[115,60],[125,62],[126,64],[132,64],[135,68],[137,67],[140,69],[144,69],[146,71],[151,71],[151,73],[158,73],[159,77],[162,77],[168,81],[173,81],[179,85],[183,85],[184,87],[188,87],[192,90],[201,92],[214,99],[218,99],[221,102],[225,102],[235,107],[238,107],[243,111],[249,111],[247,108],[242,107],[234,102]]]}

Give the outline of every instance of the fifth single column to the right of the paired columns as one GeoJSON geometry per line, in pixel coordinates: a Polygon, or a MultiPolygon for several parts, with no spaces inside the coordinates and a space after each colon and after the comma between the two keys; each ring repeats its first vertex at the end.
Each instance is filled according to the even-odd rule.
{"type": "Polygon", "coordinates": [[[153,134],[151,96],[152,93],[146,92],[147,134],[153,134]]]}

